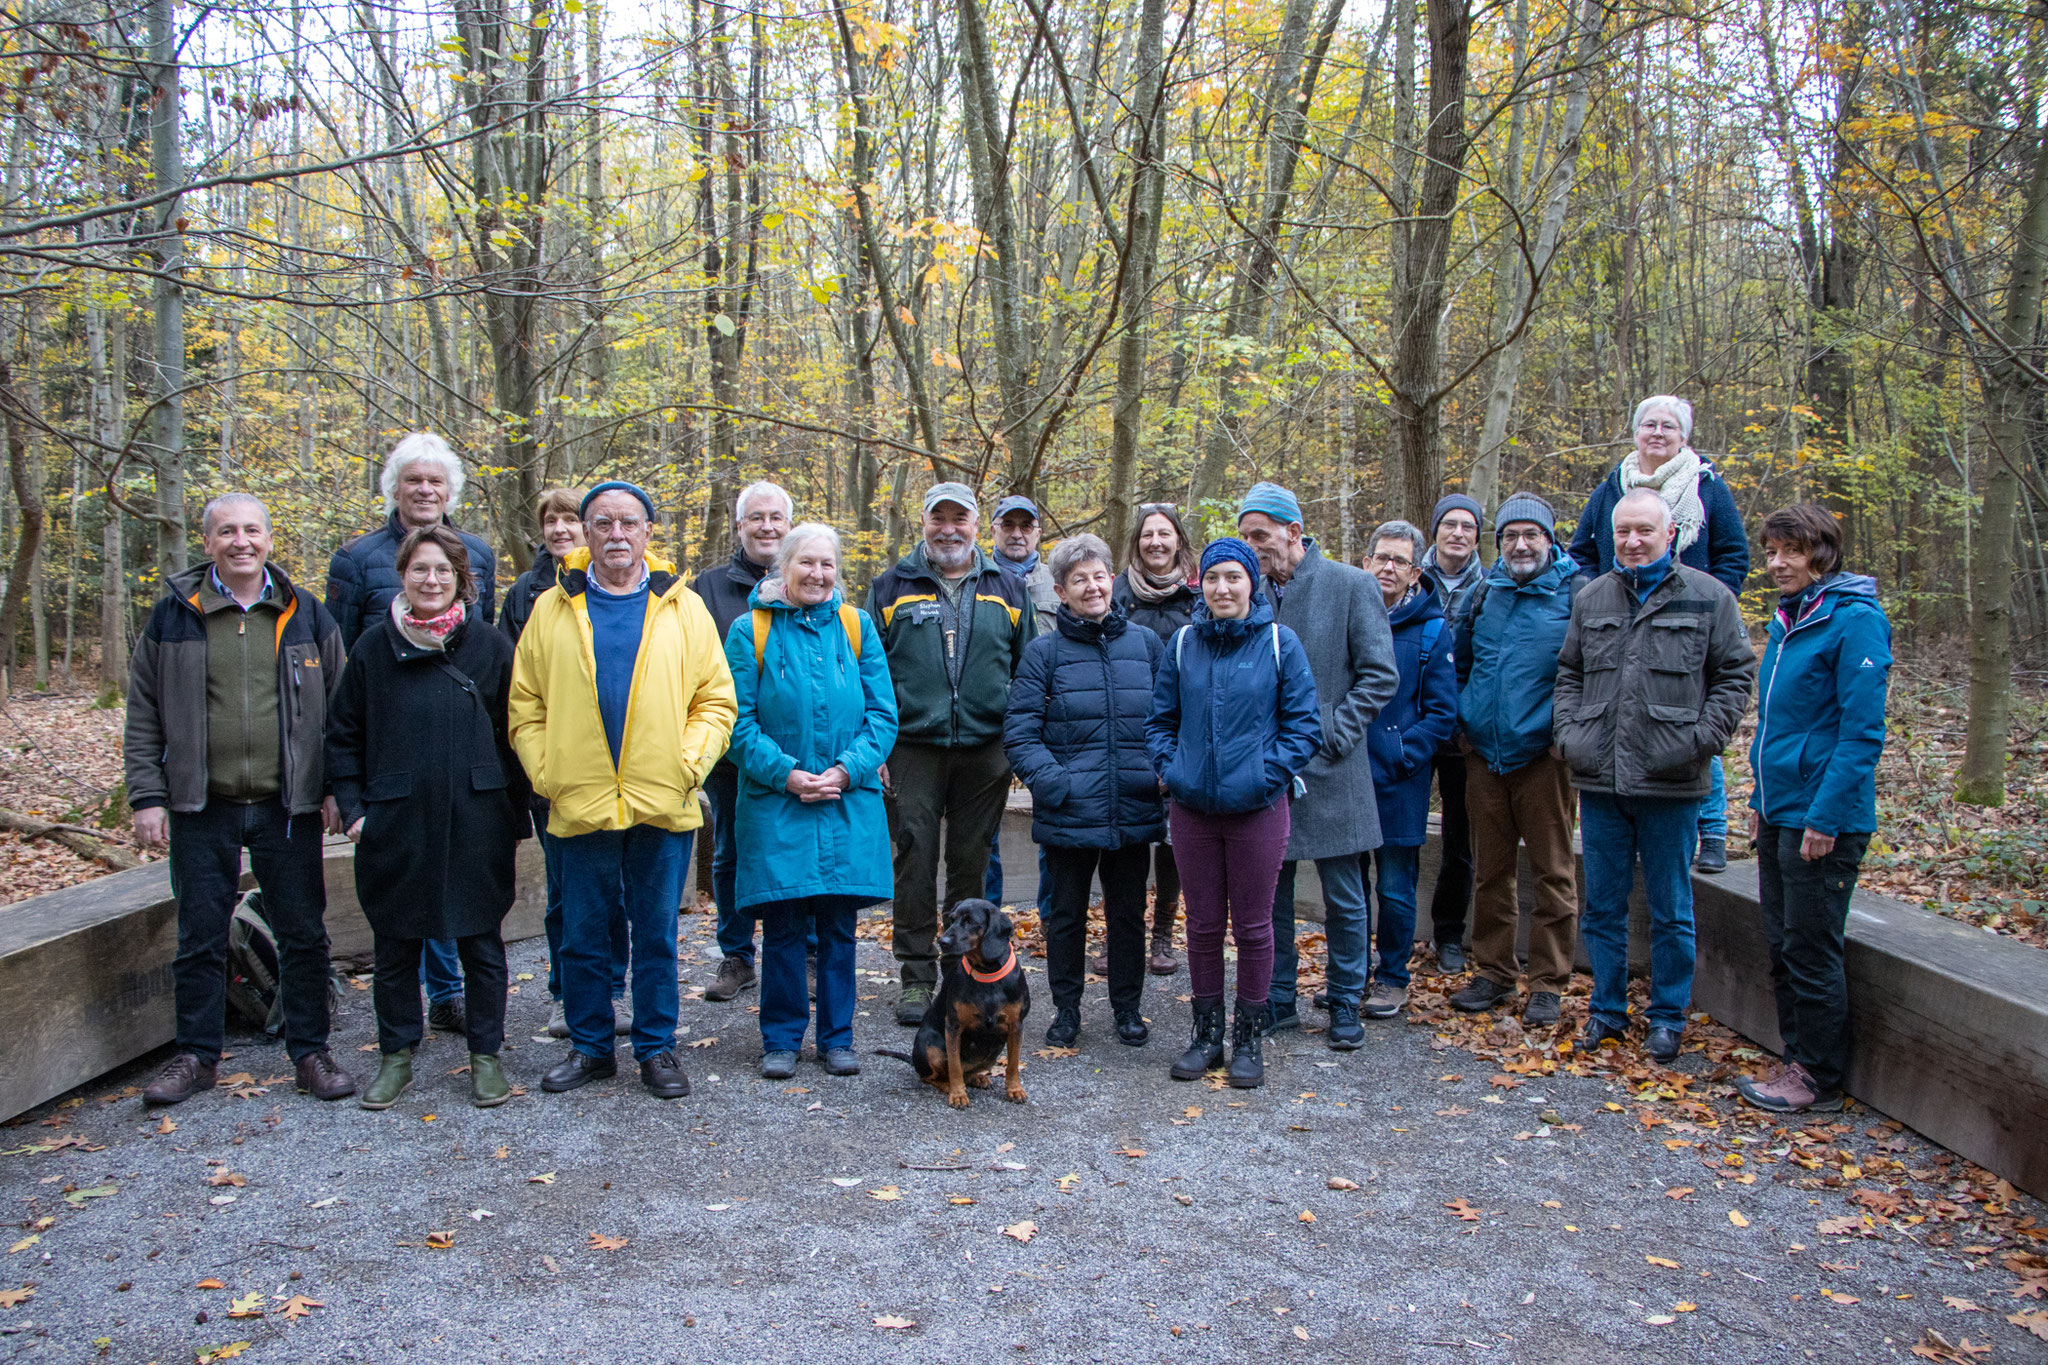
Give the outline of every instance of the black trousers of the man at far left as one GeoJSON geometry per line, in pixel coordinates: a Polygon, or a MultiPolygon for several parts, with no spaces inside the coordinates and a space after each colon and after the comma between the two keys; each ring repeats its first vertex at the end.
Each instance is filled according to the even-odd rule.
{"type": "Polygon", "coordinates": [[[178,1052],[207,1062],[227,1044],[227,921],[250,851],[264,919],[276,937],[285,1050],[291,1060],[328,1048],[328,884],[319,868],[319,817],[293,819],[279,800],[209,800],[170,812],[170,892],[178,898],[178,1052]]]}

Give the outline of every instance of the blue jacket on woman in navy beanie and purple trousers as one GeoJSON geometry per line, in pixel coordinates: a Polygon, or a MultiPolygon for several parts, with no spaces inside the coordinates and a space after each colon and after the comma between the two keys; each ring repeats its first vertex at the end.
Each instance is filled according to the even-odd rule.
{"type": "Polygon", "coordinates": [[[1167,794],[1202,814],[1264,810],[1323,747],[1309,651],[1274,620],[1266,593],[1251,614],[1217,620],[1196,604],[1159,655],[1145,747],[1167,794]]]}

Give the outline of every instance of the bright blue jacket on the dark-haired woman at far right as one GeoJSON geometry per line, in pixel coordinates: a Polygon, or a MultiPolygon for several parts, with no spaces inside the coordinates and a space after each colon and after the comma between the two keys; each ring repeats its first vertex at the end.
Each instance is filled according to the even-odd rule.
{"type": "Polygon", "coordinates": [[[1757,684],[1749,806],[1819,835],[1878,829],[1892,622],[1862,573],[1821,579],[1772,618],[1757,684]]]}

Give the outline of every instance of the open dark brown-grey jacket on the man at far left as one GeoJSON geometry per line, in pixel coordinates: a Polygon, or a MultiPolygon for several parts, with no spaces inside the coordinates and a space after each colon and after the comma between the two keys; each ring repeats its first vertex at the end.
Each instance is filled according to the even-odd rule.
{"type": "MultiPolygon", "coordinates": [[[[129,806],[193,812],[207,804],[207,622],[199,587],[209,563],[170,579],[129,659],[121,741],[129,806]]],[[[342,684],[342,632],[319,600],[270,565],[285,610],[276,614],[279,759],[285,808],[319,810],[328,794],[322,731],[342,684]]]]}

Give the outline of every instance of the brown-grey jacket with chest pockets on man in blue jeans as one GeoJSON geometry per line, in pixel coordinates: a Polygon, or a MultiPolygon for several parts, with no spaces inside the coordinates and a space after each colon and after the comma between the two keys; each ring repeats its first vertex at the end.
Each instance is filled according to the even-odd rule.
{"type": "Polygon", "coordinates": [[[1735,596],[1673,565],[1642,604],[1620,571],[1579,587],[1552,733],[1581,792],[1698,800],[1757,681],[1735,596]]]}

